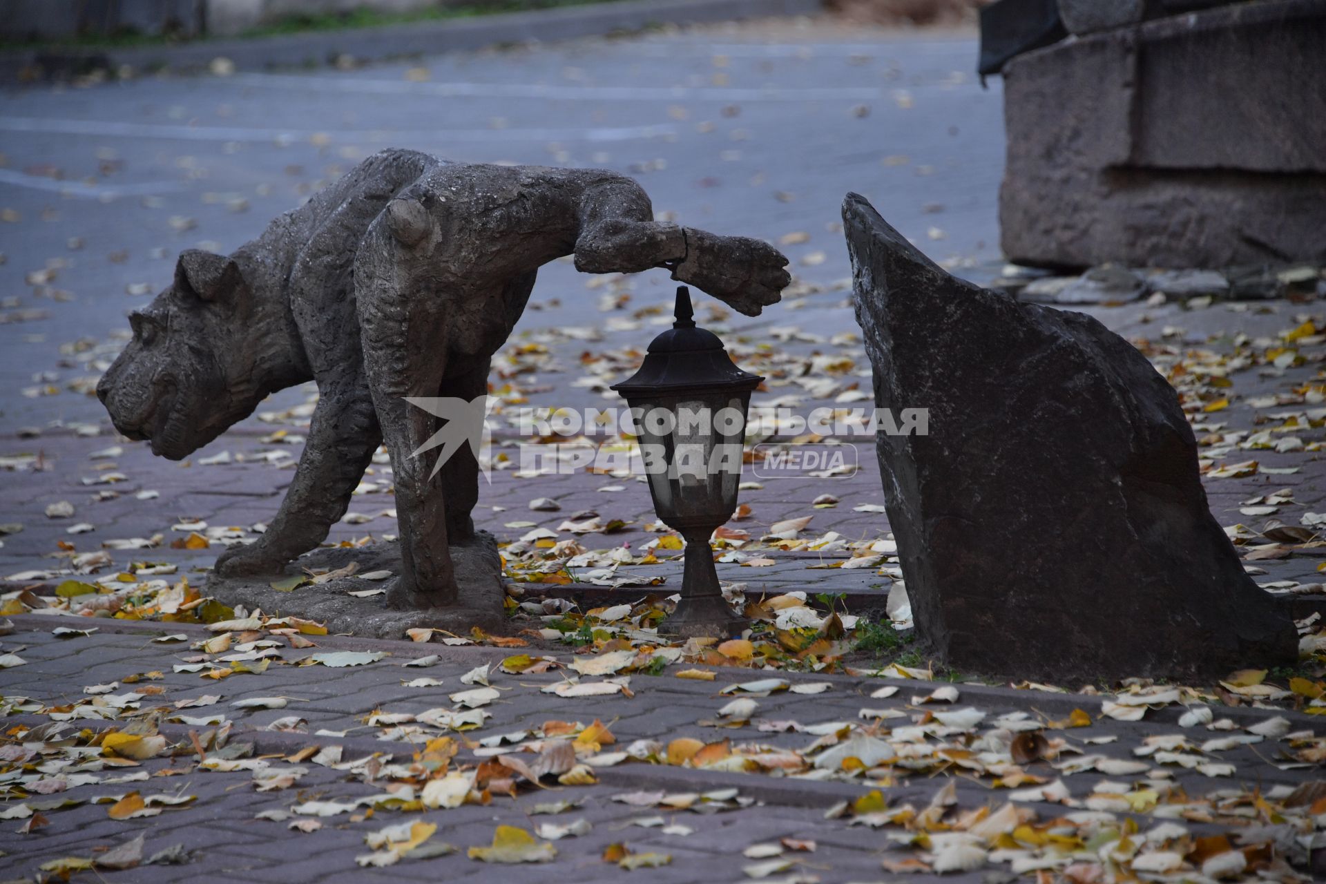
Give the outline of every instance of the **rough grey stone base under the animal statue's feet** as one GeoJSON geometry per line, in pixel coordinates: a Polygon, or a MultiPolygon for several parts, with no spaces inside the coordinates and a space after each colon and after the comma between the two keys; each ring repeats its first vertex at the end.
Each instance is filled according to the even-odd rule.
{"type": "Polygon", "coordinates": [[[503,614],[501,558],[497,542],[492,534],[479,531],[467,543],[453,543],[451,558],[456,569],[456,583],[461,602],[450,607],[392,610],[387,607],[386,595],[357,598],[351,591],[386,588],[391,582],[365,580],[358,574],[373,571],[402,573],[400,550],[395,543],[378,543],[358,549],[318,549],[286,566],[284,574],[264,577],[223,578],[215,574],[208,579],[204,594],[220,602],[249,608],[261,608],[264,614],[298,616],[317,620],[326,626],[328,632],[350,634],[365,639],[402,639],[406,630],[428,627],[446,630],[459,636],[469,635],[479,627],[487,632],[500,631],[505,624],[503,614]],[[341,569],[351,562],[359,567],[357,575],[337,578],[326,583],[305,583],[290,592],[272,588],[272,583],[302,573],[341,569]]]}

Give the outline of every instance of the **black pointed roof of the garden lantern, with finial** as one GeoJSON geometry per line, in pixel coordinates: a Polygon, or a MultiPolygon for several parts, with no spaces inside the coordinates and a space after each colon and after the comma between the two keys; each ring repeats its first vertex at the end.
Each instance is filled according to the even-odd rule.
{"type": "Polygon", "coordinates": [[[743,371],[732,362],[719,335],[696,327],[691,290],[684,285],[676,289],[674,317],[672,327],[650,343],[639,371],[613,384],[613,390],[630,399],[692,390],[741,392],[754,390],[764,382],[760,375],[743,371]]]}

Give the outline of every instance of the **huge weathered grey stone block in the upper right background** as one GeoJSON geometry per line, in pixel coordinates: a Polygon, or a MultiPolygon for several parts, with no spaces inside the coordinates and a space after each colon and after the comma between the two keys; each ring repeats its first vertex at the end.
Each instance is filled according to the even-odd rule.
{"type": "Polygon", "coordinates": [[[1061,42],[1004,69],[1001,243],[1022,264],[1323,261],[1326,4],[1061,42]]]}

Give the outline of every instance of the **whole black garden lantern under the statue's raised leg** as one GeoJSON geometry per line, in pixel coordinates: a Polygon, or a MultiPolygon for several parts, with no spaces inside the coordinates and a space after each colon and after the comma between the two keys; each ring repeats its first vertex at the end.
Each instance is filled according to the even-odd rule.
{"type": "Polygon", "coordinates": [[[686,539],[682,600],[660,634],[728,636],[745,627],[723,599],[709,535],[736,512],[751,391],[762,380],[695,326],[683,285],[672,327],[654,338],[639,371],[613,384],[635,419],[654,509],[686,539]]]}

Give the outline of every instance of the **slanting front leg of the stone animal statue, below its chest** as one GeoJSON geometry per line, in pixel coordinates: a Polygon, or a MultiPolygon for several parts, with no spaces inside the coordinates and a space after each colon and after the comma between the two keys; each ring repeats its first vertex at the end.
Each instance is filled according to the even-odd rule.
{"type": "Polygon", "coordinates": [[[362,378],[325,384],[309,424],[309,437],[281,509],[253,543],[233,546],[216,559],[221,577],[278,574],[308,553],[345,516],[350,496],[382,443],[369,387],[362,378]]]}

